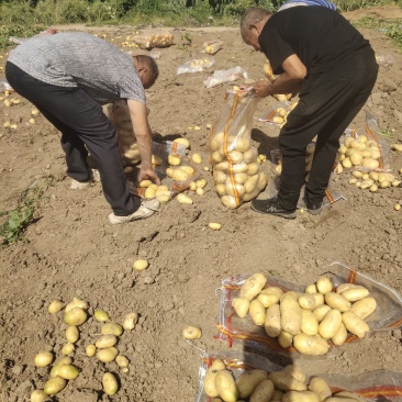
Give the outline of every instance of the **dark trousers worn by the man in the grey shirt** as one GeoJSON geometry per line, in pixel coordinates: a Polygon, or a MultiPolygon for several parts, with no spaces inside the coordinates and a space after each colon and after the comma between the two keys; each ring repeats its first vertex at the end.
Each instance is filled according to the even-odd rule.
{"type": "Polygon", "coordinates": [[[115,129],[103,114],[101,105],[79,88],[45,83],[10,62],[5,65],[5,77],[18,93],[32,102],[62,132],[67,176],[78,181],[90,179],[89,150],[113,212],[124,216],[136,211],[139,199],[130,193],[115,129]]]}

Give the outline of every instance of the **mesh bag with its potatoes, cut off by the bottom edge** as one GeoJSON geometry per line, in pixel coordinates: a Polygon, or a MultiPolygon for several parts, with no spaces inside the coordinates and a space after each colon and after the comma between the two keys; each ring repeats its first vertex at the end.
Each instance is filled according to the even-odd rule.
{"type": "Polygon", "coordinates": [[[312,375],[247,351],[205,354],[196,402],[400,401],[402,375],[377,370],[359,376],[312,375]]]}

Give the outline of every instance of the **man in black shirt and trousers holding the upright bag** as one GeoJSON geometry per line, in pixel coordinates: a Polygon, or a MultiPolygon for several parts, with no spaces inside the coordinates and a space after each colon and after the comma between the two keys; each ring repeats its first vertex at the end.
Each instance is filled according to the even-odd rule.
{"type": "Polygon", "coordinates": [[[279,75],[254,83],[257,96],[297,93],[299,103],[279,134],[282,172],[279,192],[254,200],[253,210],[295,217],[308,144],[316,146],[305,203],[311,214],[323,199],[339,147],[339,137],[366,103],[378,65],[369,42],[340,14],[323,7],[294,7],[271,14],[261,8],[245,12],[241,23],[246,44],[263,52],[279,75]]]}

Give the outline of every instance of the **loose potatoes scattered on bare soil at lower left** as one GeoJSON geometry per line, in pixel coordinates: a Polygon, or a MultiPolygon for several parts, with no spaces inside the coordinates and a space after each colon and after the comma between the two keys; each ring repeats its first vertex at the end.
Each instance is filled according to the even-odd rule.
{"type": "MultiPolygon", "coordinates": [[[[62,348],[60,357],[54,364],[54,354],[52,351],[40,351],[35,358],[36,367],[48,367],[53,364],[49,371],[49,379],[45,382],[43,389],[36,389],[31,393],[31,402],[44,402],[49,395],[55,395],[60,392],[69,380],[75,380],[80,369],[72,364],[70,356],[76,351],[76,343],[80,338],[79,327],[87,322],[88,303],[83,300],[75,298],[64,309],[64,322],[68,325],[66,330],[66,344],[62,348]]],[[[63,310],[63,303],[59,300],[53,301],[48,306],[51,314],[56,314],[63,310]]],[[[94,342],[86,346],[85,354],[88,357],[97,356],[97,358],[104,362],[115,361],[123,373],[129,372],[127,357],[120,355],[116,344],[123,331],[131,331],[135,327],[138,319],[137,313],[130,313],[126,315],[122,325],[110,321],[109,314],[102,310],[97,310],[93,313],[93,319],[102,323],[101,335],[94,342]]],[[[119,390],[119,382],[115,375],[111,372],[103,373],[102,377],[103,391],[108,395],[113,395],[119,390]]]]}

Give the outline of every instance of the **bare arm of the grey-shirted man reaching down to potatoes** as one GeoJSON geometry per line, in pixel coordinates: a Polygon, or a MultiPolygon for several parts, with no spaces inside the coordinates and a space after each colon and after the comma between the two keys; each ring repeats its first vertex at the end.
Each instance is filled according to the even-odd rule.
{"type": "Polygon", "coordinates": [[[153,169],[150,159],[153,153],[153,138],[148,124],[146,107],[144,103],[134,100],[127,100],[127,105],[142,160],[138,181],[141,182],[144,179],[150,179],[159,185],[160,180],[153,169]]]}

